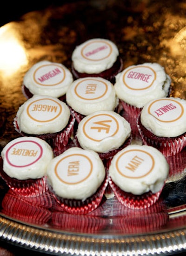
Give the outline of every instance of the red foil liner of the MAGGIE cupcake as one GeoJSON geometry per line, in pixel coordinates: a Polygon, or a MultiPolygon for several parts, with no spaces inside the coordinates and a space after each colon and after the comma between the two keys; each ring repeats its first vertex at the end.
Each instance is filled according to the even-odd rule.
{"type": "Polygon", "coordinates": [[[17,123],[17,118],[14,118],[13,125],[15,130],[20,133],[21,136],[36,136],[44,141],[46,141],[51,148],[53,149],[53,152],[58,150],[62,150],[63,147],[65,147],[70,139],[70,137],[73,135],[73,126],[74,126],[75,118],[71,114],[69,122],[62,131],[53,133],[53,134],[41,134],[41,135],[33,135],[33,134],[27,134],[20,131],[20,128],[17,123]]]}

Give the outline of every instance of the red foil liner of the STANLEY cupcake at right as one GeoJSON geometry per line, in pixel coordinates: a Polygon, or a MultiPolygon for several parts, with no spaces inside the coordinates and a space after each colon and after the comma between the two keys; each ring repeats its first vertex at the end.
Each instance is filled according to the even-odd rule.
{"type": "Polygon", "coordinates": [[[174,156],[186,147],[186,133],[172,138],[158,137],[143,127],[140,116],[137,126],[143,143],[158,149],[164,156],[174,156]]]}

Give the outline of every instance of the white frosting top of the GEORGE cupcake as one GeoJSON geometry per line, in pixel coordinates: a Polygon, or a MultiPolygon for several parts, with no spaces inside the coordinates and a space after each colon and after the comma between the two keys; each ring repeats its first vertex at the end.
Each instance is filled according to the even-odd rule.
{"type": "Polygon", "coordinates": [[[171,78],[157,63],[133,65],[116,75],[114,89],[120,100],[143,107],[149,100],[168,96],[171,78]]]}

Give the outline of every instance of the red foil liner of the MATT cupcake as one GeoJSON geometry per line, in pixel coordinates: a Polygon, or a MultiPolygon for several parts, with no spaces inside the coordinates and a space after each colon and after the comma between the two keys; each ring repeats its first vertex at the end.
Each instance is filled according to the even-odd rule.
{"type": "Polygon", "coordinates": [[[133,195],[132,193],[122,191],[112,181],[112,179],[109,179],[109,184],[120,204],[135,210],[146,209],[150,206],[153,206],[153,204],[158,201],[159,196],[162,192],[162,190],[160,190],[159,192],[154,194],[152,192],[146,192],[142,195],[133,195]]]}

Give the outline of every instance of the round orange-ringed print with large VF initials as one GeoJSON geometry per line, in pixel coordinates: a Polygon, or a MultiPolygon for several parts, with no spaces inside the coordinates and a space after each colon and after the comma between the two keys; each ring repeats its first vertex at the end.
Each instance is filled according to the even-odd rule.
{"type": "Polygon", "coordinates": [[[84,135],[90,140],[100,142],[106,137],[114,136],[119,131],[119,122],[111,114],[97,114],[83,125],[84,135]]]}

